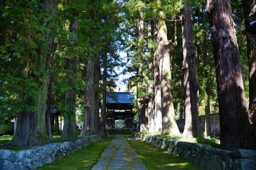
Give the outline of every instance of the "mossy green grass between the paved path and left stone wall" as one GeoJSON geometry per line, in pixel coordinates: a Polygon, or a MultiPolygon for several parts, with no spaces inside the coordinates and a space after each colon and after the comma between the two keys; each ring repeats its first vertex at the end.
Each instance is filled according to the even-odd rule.
{"type": "Polygon", "coordinates": [[[38,167],[36,170],[91,170],[110,142],[111,140],[91,143],[86,148],[76,150],[76,152],[56,159],[53,163],[38,167]]]}

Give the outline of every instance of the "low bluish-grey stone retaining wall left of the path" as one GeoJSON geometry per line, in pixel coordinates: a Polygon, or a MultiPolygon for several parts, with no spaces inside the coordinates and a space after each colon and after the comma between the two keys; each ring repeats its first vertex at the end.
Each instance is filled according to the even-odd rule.
{"type": "MultiPolygon", "coordinates": [[[[103,134],[104,135],[104,134],[103,134]]],[[[93,135],[63,143],[49,143],[18,151],[0,149],[0,170],[30,170],[52,163],[57,158],[89,146],[102,139],[102,135],[93,135]]]]}

